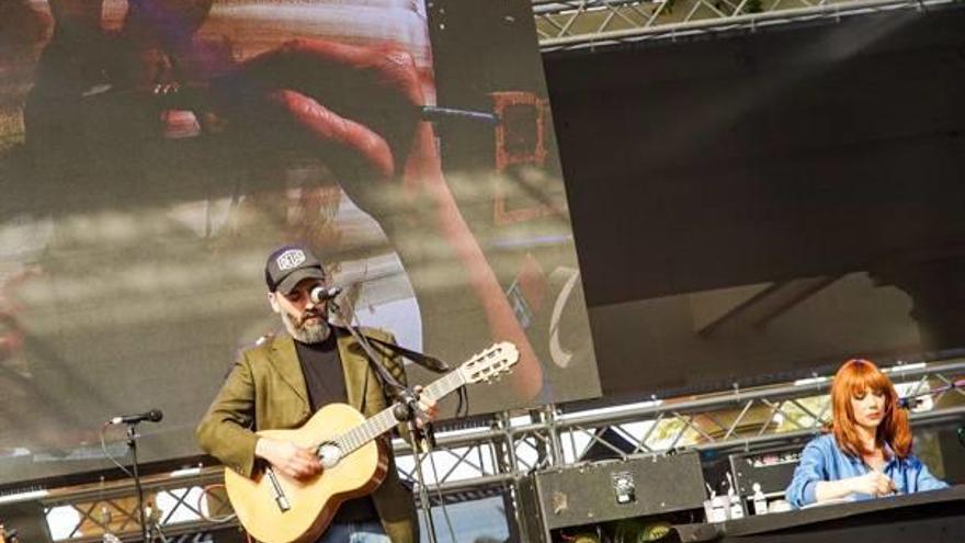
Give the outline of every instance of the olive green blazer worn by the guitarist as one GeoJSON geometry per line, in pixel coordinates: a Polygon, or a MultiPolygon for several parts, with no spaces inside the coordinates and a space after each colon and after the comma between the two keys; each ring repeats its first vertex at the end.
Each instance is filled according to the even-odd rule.
{"type": "MultiPolygon", "coordinates": [[[[355,339],[347,331],[334,330],[349,405],[371,417],[387,407],[378,376],[355,339]]],[[[391,335],[379,330],[365,329],[363,332],[393,341],[391,335]]],[[[385,367],[405,383],[405,372],[398,358],[377,343],[373,342],[372,347],[383,357],[381,362],[385,367]]],[[[205,452],[250,477],[257,468],[254,443],[258,437],[254,432],[298,428],[311,415],[295,341],[288,335],[279,335],[241,352],[197,426],[197,441],[205,452]]],[[[385,444],[389,452],[388,473],[372,498],[393,543],[415,543],[418,541],[418,523],[412,494],[399,483],[391,446],[385,444]]]]}

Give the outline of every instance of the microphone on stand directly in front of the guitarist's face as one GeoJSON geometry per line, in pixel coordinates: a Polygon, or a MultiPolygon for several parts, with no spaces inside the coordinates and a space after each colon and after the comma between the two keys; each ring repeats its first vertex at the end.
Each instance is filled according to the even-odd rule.
{"type": "MultiPolygon", "coordinates": [[[[422,459],[419,457],[420,441],[424,444],[424,453],[432,453],[430,446],[431,440],[419,439],[419,437],[423,434],[423,430],[427,430],[427,435],[431,435],[431,421],[429,420],[429,417],[425,416],[425,412],[419,408],[419,400],[416,392],[399,383],[399,381],[378,362],[381,357],[376,354],[367,338],[359,331],[357,327],[352,325],[352,321],[355,320],[355,310],[352,305],[348,305],[350,318],[345,318],[345,316],[342,315],[341,306],[336,303],[333,298],[328,299],[328,304],[336,316],[342,320],[344,328],[352,335],[365,352],[365,355],[368,359],[368,364],[381,377],[383,391],[388,392],[388,388],[393,389],[391,396],[397,401],[396,406],[393,408],[393,415],[396,420],[400,422],[406,421],[409,429],[409,444],[412,446],[412,454],[416,456],[416,482],[419,485],[419,500],[422,502],[422,518],[425,521],[429,543],[436,543],[435,523],[432,520],[432,504],[429,501],[429,489],[425,487],[425,477],[422,474],[422,459]],[[419,428],[419,425],[417,423],[417,421],[420,420],[423,422],[423,428],[419,428]]],[[[379,343],[382,342],[379,341],[379,343]]]]}

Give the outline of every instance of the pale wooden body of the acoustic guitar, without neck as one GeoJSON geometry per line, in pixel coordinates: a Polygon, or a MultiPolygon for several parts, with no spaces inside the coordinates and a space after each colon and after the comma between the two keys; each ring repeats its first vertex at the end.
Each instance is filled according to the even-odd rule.
{"type": "MultiPolygon", "coordinates": [[[[329,404],[302,428],[264,430],[258,434],[310,448],[364,421],[365,417],[351,406],[329,404]]],[[[264,543],[306,543],[321,535],[339,505],[375,490],[387,468],[387,456],[378,440],[373,440],[310,479],[297,480],[275,471],[291,506],[287,511],[282,511],[275,501],[274,487],[264,472],[248,478],[225,470],[225,488],[238,520],[254,539],[264,543]]]]}

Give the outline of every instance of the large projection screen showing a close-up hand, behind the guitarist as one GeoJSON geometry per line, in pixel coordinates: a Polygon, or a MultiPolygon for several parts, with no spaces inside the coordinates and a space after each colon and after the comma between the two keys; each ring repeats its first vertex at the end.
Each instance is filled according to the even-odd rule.
{"type": "Polygon", "coordinates": [[[198,454],[236,353],[282,329],[262,270],[296,241],[405,347],[455,365],[516,343],[473,414],[599,395],[526,0],[0,16],[0,485],[109,467],[103,422],[150,408],[143,461],[198,454]]]}

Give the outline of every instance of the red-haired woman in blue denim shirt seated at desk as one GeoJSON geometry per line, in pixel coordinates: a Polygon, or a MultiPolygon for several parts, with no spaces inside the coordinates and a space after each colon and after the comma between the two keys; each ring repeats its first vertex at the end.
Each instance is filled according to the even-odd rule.
{"type": "Polygon", "coordinates": [[[842,498],[867,499],[945,488],[911,454],[908,412],[887,375],[849,360],[831,385],[830,431],[801,454],[785,496],[794,508],[842,498]]]}

